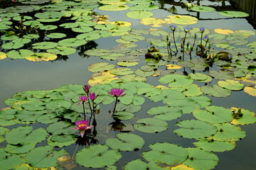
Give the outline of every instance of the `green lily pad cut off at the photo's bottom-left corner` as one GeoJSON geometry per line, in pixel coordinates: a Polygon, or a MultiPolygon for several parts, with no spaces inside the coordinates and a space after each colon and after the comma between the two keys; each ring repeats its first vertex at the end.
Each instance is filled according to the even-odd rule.
{"type": "Polygon", "coordinates": [[[0,155],[1,169],[3,170],[14,169],[15,166],[25,163],[21,155],[6,153],[4,152],[4,148],[0,149],[0,155]]]}

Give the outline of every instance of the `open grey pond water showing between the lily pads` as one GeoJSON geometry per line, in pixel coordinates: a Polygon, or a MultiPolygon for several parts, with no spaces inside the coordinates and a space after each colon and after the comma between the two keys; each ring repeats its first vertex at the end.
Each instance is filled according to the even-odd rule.
{"type": "MultiPolygon", "coordinates": [[[[230,1],[183,1],[186,3],[198,4],[201,6],[211,6],[215,8],[217,11],[215,12],[195,12],[195,11],[187,11],[185,8],[181,8],[181,1],[155,1],[155,4],[159,6],[159,9],[151,11],[154,13],[154,18],[166,18],[166,16],[174,15],[168,11],[171,6],[176,6],[178,15],[189,15],[198,18],[198,22],[193,25],[183,25],[190,26],[191,28],[205,27],[211,30],[215,28],[229,29],[229,30],[252,30],[255,31],[255,26],[250,24],[247,18],[232,18],[220,16],[218,11],[236,11],[237,9],[232,6],[230,1]]],[[[126,16],[126,13],[129,10],[124,11],[102,11],[98,8],[93,9],[96,13],[100,15],[107,15],[109,21],[128,21],[132,23],[132,30],[134,29],[144,29],[147,30],[149,28],[155,28],[151,26],[144,26],[142,23],[139,23],[139,19],[129,18],[126,16]]],[[[53,23],[54,24],[54,23],[53,23]]],[[[55,23],[59,24],[59,23],[55,23]]],[[[166,30],[171,33],[171,30],[168,26],[157,27],[159,30],[166,30]]],[[[69,34],[68,32],[64,32],[69,34]]],[[[3,37],[4,35],[2,35],[3,37]]],[[[69,35],[71,38],[72,34],[69,35]]],[[[75,35],[74,35],[75,36],[75,35]]],[[[146,38],[151,38],[151,35],[145,35],[146,38]]],[[[109,38],[99,38],[97,40],[93,40],[93,47],[97,49],[117,49],[119,47],[119,43],[114,40],[119,39],[119,36],[109,37],[109,38]]],[[[160,38],[160,37],[159,37],[160,38]]],[[[47,40],[46,38],[45,40],[47,40]]],[[[250,42],[256,40],[255,35],[247,38],[250,42]]],[[[4,42],[2,42],[4,43],[4,42]]],[[[143,48],[146,50],[146,47],[150,46],[149,42],[146,40],[141,40],[136,42],[137,47],[134,49],[143,48]]],[[[157,45],[156,45],[157,46],[157,45]]],[[[235,46],[238,47],[238,46],[235,46]]],[[[246,47],[246,45],[242,45],[240,47],[246,47]]],[[[159,47],[162,48],[162,47],[159,47]]],[[[90,49],[90,48],[89,48],[90,49]]],[[[88,49],[88,50],[89,50],[88,49]]],[[[5,50],[1,49],[3,52],[5,50]]],[[[223,50],[223,49],[222,49],[223,50]]],[[[7,50],[8,51],[8,50],[7,50]]],[[[77,52],[73,55],[68,55],[65,60],[61,59],[61,56],[58,56],[59,60],[54,60],[50,62],[30,62],[25,59],[14,59],[6,58],[4,60],[0,60],[0,109],[9,107],[4,101],[6,98],[11,98],[14,94],[18,92],[28,91],[28,90],[50,90],[57,89],[60,86],[65,84],[87,84],[87,81],[92,77],[92,72],[87,71],[87,68],[90,64],[98,63],[98,62],[109,62],[110,64],[117,64],[117,61],[110,60],[102,60],[100,57],[95,56],[85,56],[81,55],[85,52],[85,50],[77,50],[77,52]]],[[[140,56],[141,61],[137,66],[131,67],[132,70],[139,69],[146,62],[144,62],[144,56],[140,56]]],[[[188,59],[188,57],[187,57],[188,59]]],[[[170,62],[171,63],[171,62],[170,62]]],[[[255,63],[254,63],[255,64],[255,63]]],[[[160,69],[165,69],[164,66],[160,67],[160,69]]],[[[210,67],[210,70],[218,70],[218,66],[210,67]]],[[[183,69],[178,69],[177,72],[183,72],[183,69]]],[[[191,70],[186,68],[186,72],[191,73],[191,70]]],[[[208,74],[208,72],[202,72],[208,74]]],[[[159,85],[158,81],[159,77],[147,77],[146,83],[151,85],[159,85]]],[[[219,79],[213,79],[210,84],[217,84],[219,79]]],[[[163,85],[163,84],[161,84],[163,85]]],[[[166,85],[166,84],[164,84],[166,85]]],[[[198,83],[199,86],[203,86],[202,83],[198,83]]],[[[167,85],[166,85],[167,86],[167,85]]],[[[206,94],[203,94],[208,96],[206,94]]],[[[210,106],[221,106],[224,108],[236,107],[236,108],[245,108],[249,111],[256,112],[255,105],[255,96],[250,96],[244,91],[232,91],[231,95],[224,98],[216,98],[213,96],[208,96],[212,102],[210,106]]],[[[101,106],[100,114],[97,115],[97,140],[100,144],[104,145],[105,140],[109,137],[114,137],[117,133],[114,130],[110,130],[110,123],[112,123],[112,118],[108,111],[112,109],[114,103],[111,103],[110,106],[101,106]]],[[[125,123],[135,123],[136,120],[141,118],[148,118],[149,115],[146,114],[146,111],[149,108],[163,106],[162,102],[152,102],[146,98],[145,103],[142,105],[142,109],[136,113],[136,117],[132,120],[125,120],[125,123]]],[[[167,121],[169,124],[168,130],[164,132],[159,132],[156,134],[139,132],[137,130],[133,131],[134,134],[139,135],[144,138],[145,145],[142,149],[139,149],[137,152],[121,152],[122,158],[114,164],[117,166],[117,169],[122,169],[128,162],[134,159],[142,159],[146,162],[145,159],[142,158],[142,152],[146,152],[151,150],[149,145],[154,144],[156,142],[169,142],[181,147],[194,147],[193,142],[197,140],[187,139],[184,137],[180,137],[176,135],[173,131],[177,129],[175,125],[177,121],[180,120],[188,120],[194,119],[192,114],[183,114],[181,118],[176,120],[167,121]]],[[[39,127],[47,128],[48,125],[42,125],[39,123],[33,124],[33,128],[39,127]]],[[[18,125],[6,126],[5,128],[16,128],[18,125]]],[[[213,152],[219,158],[218,165],[215,166],[214,169],[256,169],[256,137],[255,137],[255,129],[256,124],[250,125],[240,125],[242,130],[245,130],[246,137],[240,141],[235,142],[236,147],[228,152],[213,152]]],[[[46,145],[46,142],[43,142],[42,145],[46,145]]],[[[0,148],[5,147],[6,142],[0,143],[0,148]]],[[[78,145],[70,145],[68,147],[64,147],[66,151],[69,152],[70,156],[77,152],[76,147],[78,145]]],[[[78,149],[82,149],[82,146],[78,147],[78,149]]],[[[75,169],[86,169],[83,166],[76,166],[75,169]]]]}

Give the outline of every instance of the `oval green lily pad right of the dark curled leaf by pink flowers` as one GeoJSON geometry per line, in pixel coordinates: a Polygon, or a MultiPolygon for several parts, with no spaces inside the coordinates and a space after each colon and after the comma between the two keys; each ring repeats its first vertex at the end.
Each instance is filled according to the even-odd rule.
{"type": "Polygon", "coordinates": [[[142,118],[137,120],[136,123],[134,129],[146,133],[162,132],[168,128],[168,123],[156,118],[142,118]]]}

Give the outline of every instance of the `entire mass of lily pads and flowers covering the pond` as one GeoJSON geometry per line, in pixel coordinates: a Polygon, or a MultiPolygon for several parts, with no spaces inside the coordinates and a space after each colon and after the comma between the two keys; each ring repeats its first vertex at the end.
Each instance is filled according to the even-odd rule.
{"type": "MultiPolygon", "coordinates": [[[[215,12],[208,6],[187,6],[215,12]]],[[[0,9],[0,60],[58,60],[85,49],[82,55],[117,61],[90,64],[87,70],[94,73],[90,85],[68,84],[7,98],[4,103],[10,108],[0,111],[2,169],[68,169],[78,164],[118,169],[115,163],[127,152],[139,154],[122,164],[124,169],[213,169],[219,161],[213,152],[235,148],[246,135],[240,125],[255,123],[255,113],[210,106],[208,96],[227,97],[232,91],[256,96],[256,43],[249,42],[255,32],[216,28],[212,33],[204,26],[188,26],[198,22],[193,16],[151,17],[158,8],[150,0],[20,0],[0,9]],[[132,29],[132,23],[108,21],[92,11],[95,8],[129,10],[127,17],[154,28],[132,29]],[[156,29],[163,26],[170,29],[156,29]],[[115,40],[118,49],[87,47],[93,40],[112,36],[120,37],[115,40]],[[149,47],[135,49],[143,40],[149,47]],[[134,70],[142,59],[146,64],[134,70]],[[158,84],[146,83],[149,77],[159,77],[158,84]],[[148,108],[143,118],[142,107],[148,108]],[[179,119],[188,114],[193,119],[179,119]],[[33,126],[39,123],[44,128],[33,126]],[[194,147],[149,144],[140,136],[165,131],[193,139],[194,147]],[[77,152],[77,147],[72,156],[66,148],[75,144],[84,148],[77,152]]],[[[238,11],[219,14],[247,16],[238,11]]]]}

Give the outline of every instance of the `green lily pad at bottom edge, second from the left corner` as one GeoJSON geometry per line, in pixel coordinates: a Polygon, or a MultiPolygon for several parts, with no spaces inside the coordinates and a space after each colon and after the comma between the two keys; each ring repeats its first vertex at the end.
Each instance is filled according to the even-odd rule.
{"type": "Polygon", "coordinates": [[[26,154],[26,163],[31,164],[35,168],[48,168],[51,166],[57,166],[56,162],[58,157],[63,154],[68,154],[65,149],[53,151],[53,147],[44,146],[37,147],[26,154]]]}

